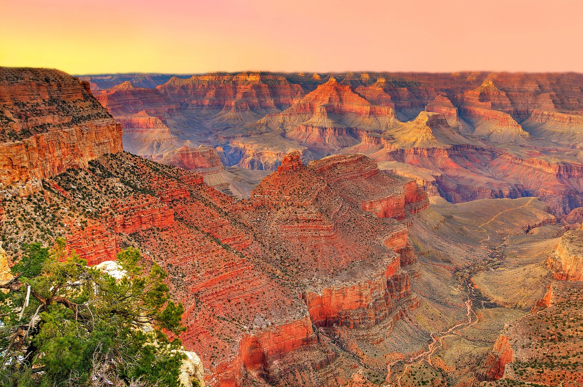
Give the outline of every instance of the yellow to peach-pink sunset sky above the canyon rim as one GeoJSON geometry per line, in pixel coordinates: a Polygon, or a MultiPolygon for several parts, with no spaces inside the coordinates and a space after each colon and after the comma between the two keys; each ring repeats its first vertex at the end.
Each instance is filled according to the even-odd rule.
{"type": "Polygon", "coordinates": [[[0,0],[0,65],[583,72],[581,0],[0,0]]]}

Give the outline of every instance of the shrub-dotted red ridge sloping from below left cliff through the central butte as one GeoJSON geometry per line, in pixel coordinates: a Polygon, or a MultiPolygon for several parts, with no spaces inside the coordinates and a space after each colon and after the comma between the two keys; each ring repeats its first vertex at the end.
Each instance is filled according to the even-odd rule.
{"type": "Polygon", "coordinates": [[[6,248],[17,256],[25,229],[42,237],[18,220],[40,206],[89,264],[132,244],[168,270],[186,310],[182,342],[200,356],[208,384],[343,383],[361,366],[333,350],[336,330],[347,330],[339,340],[358,353],[368,345],[362,333],[378,335],[382,325],[384,337],[419,306],[406,226],[362,209],[364,200],[393,194],[404,216],[420,209],[427,198],[412,182],[362,155],[305,166],[292,153],[250,199],[234,200],[197,173],[108,154],[87,170],[44,179],[34,204],[4,202],[15,225],[5,230],[6,248]]]}

